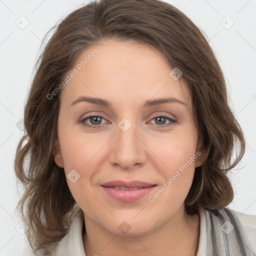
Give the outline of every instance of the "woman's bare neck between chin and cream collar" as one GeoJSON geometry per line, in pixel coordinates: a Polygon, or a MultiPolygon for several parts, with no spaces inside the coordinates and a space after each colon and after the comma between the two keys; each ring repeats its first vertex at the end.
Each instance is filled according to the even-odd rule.
{"type": "Polygon", "coordinates": [[[159,228],[143,235],[119,236],[84,216],[83,244],[86,256],[169,255],[195,256],[199,243],[199,214],[189,216],[181,207],[159,228]]]}

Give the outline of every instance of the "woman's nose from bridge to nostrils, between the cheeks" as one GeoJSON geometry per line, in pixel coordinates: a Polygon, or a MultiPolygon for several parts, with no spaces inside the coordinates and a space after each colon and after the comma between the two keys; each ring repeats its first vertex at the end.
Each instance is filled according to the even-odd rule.
{"type": "MultiPolygon", "coordinates": [[[[136,124],[125,130],[123,123],[116,126],[116,135],[111,140],[111,152],[109,160],[115,167],[124,170],[131,170],[143,165],[146,162],[146,145],[143,142],[143,136],[138,131],[136,124]]],[[[124,126],[128,125],[127,120],[124,126]]]]}

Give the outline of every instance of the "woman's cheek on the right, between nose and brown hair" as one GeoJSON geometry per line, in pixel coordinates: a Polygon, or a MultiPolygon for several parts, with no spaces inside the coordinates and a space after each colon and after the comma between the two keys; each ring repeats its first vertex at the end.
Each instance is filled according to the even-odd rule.
{"type": "MultiPolygon", "coordinates": [[[[170,134],[167,139],[160,139],[155,144],[156,154],[164,163],[164,166],[162,164],[160,166],[159,163],[156,167],[163,177],[161,187],[163,186],[162,190],[164,190],[164,195],[160,196],[160,200],[157,199],[157,203],[164,201],[173,205],[185,199],[192,184],[195,160],[198,157],[196,141],[196,133],[182,132],[170,134]]],[[[160,195],[161,192],[158,194],[160,195]]]]}

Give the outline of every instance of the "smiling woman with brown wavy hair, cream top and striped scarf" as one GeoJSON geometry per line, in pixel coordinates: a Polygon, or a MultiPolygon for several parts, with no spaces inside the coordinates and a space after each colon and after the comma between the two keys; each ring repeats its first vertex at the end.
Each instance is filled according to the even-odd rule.
{"type": "Polygon", "coordinates": [[[70,13],[38,59],[24,125],[15,171],[34,254],[256,253],[256,216],[227,207],[245,143],[223,74],[172,5],[70,13]]]}

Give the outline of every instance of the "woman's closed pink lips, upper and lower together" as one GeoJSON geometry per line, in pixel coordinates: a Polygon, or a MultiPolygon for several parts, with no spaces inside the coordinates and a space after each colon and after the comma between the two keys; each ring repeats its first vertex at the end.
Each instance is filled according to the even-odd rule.
{"type": "Polygon", "coordinates": [[[130,182],[126,182],[122,180],[113,180],[113,181],[101,184],[101,187],[109,196],[122,202],[132,202],[132,201],[138,200],[143,196],[145,196],[146,194],[148,194],[155,186],[156,184],[146,183],[139,180],[133,180],[130,182]],[[110,186],[124,186],[128,188],[141,187],[141,188],[135,188],[132,190],[120,190],[110,186]]]}

